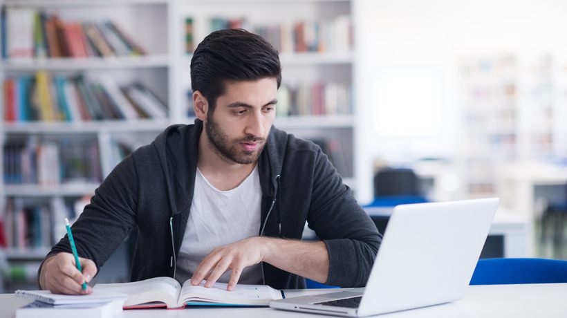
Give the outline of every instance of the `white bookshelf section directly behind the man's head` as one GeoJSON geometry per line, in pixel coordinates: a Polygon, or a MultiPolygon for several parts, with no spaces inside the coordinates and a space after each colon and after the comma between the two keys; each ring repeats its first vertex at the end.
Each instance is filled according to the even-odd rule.
{"type": "Polygon", "coordinates": [[[342,160],[342,176],[355,189],[353,1],[213,0],[181,1],[178,4],[176,30],[180,30],[178,38],[183,39],[183,45],[176,47],[183,65],[183,72],[176,81],[178,94],[187,100],[191,84],[191,47],[194,49],[212,28],[225,24],[264,35],[279,50],[282,65],[282,86],[279,93],[283,97],[278,98],[277,108],[280,113],[275,126],[299,138],[319,140],[324,137],[337,142],[340,153],[335,156],[340,157],[337,160],[342,160]],[[192,30],[192,45],[187,45],[189,40],[184,32],[187,30],[187,21],[190,21],[189,28],[192,30]],[[319,37],[313,37],[315,30],[320,31],[319,37]],[[304,40],[291,41],[292,32],[304,34],[304,40]],[[326,41],[326,32],[331,32],[331,37],[337,40],[333,43],[326,41]],[[190,47],[187,48],[188,46],[190,47]],[[290,95],[285,95],[285,92],[290,95]],[[336,103],[326,102],[317,107],[317,100],[302,97],[319,93],[346,95],[346,98],[338,97],[336,103]],[[286,106],[284,101],[288,99],[291,102],[286,106]]]}

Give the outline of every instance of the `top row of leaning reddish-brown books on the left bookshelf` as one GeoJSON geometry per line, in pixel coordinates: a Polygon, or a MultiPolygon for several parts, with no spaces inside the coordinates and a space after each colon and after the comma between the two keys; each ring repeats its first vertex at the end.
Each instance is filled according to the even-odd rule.
{"type": "Polygon", "coordinates": [[[117,24],[62,21],[33,8],[3,8],[3,58],[110,57],[146,51],[117,24]]]}

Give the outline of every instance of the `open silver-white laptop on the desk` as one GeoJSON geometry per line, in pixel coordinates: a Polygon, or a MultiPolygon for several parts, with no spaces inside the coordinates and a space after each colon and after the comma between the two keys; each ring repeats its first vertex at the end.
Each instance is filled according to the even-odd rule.
{"type": "Polygon", "coordinates": [[[270,301],[270,307],[364,317],[461,299],[498,198],[398,205],[366,288],[270,301]]]}

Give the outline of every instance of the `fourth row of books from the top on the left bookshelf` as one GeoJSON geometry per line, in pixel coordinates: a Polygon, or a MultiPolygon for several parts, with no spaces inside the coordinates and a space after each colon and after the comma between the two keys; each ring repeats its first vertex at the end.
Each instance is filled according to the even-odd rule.
{"type": "Polygon", "coordinates": [[[64,218],[75,221],[77,207],[82,200],[64,200],[53,197],[48,200],[31,198],[8,198],[4,209],[1,247],[12,249],[47,249],[65,234],[64,218]]]}

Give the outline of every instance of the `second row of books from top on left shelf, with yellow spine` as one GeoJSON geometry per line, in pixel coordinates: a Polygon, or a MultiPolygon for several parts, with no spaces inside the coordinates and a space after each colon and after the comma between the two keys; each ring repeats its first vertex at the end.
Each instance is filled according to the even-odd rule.
{"type": "Polygon", "coordinates": [[[147,87],[138,82],[120,86],[110,76],[91,80],[38,71],[6,79],[3,90],[6,122],[167,117],[164,102],[147,87]]]}

